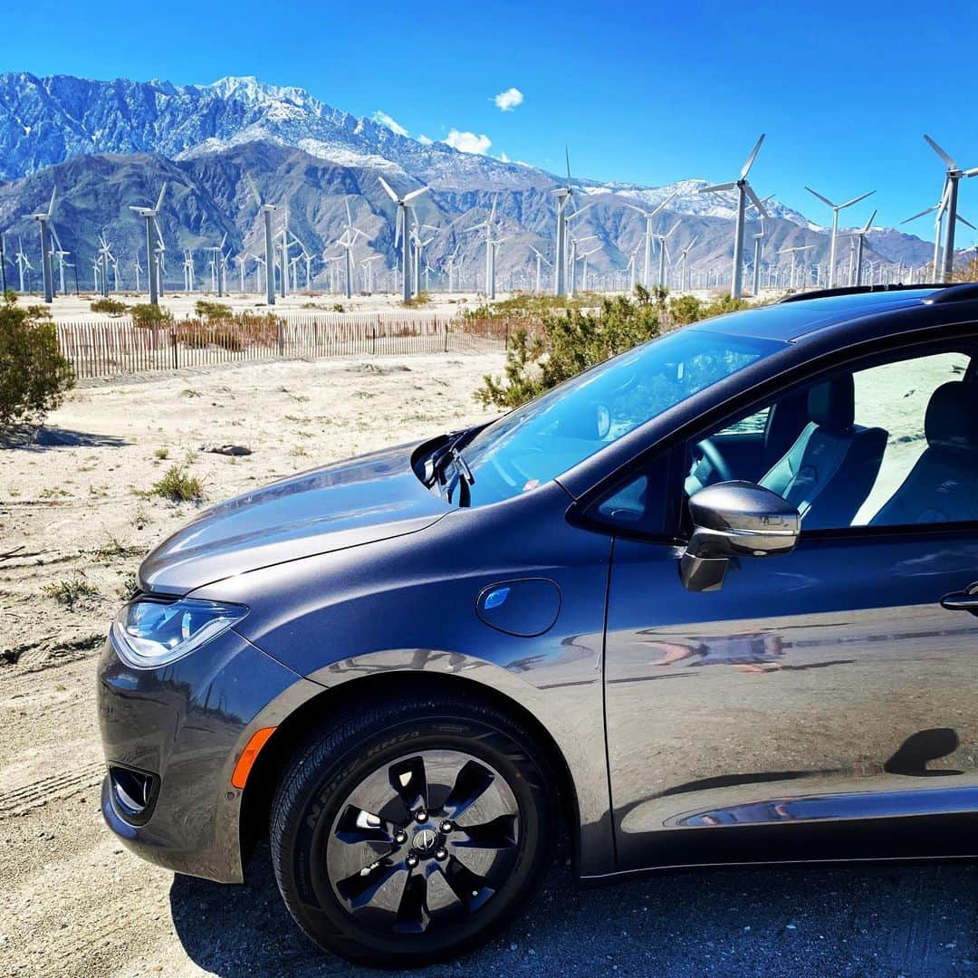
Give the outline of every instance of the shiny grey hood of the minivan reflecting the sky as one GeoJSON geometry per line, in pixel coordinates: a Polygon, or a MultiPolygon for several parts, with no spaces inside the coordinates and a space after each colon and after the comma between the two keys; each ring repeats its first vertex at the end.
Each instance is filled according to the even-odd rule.
{"type": "Polygon", "coordinates": [[[447,509],[412,469],[416,447],[314,468],[204,511],[143,561],[140,590],[185,595],[259,567],[430,526],[447,509]]]}

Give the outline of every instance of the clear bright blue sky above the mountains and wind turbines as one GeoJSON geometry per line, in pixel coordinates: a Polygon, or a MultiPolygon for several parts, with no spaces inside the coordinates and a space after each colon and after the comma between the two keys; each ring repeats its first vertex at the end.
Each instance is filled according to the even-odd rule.
{"type": "MultiPolygon", "coordinates": [[[[967,69],[978,5],[950,16],[905,0],[298,7],[40,0],[5,19],[0,69],[178,84],[254,74],[356,115],[385,112],[413,136],[456,130],[548,168],[566,143],[575,173],[650,185],[732,179],[765,132],[758,193],[820,223],[827,208],[805,184],[834,200],[876,189],[852,223],[871,205],[896,224],[936,202],[943,166],[924,132],[978,166],[967,69]],[[494,97],[511,88],[522,103],[503,111],[494,97]]],[[[960,210],[978,224],[978,178],[960,210]]],[[[922,218],[906,230],[931,229],[922,218]]],[[[959,245],[978,241],[959,232],[959,245]]]]}

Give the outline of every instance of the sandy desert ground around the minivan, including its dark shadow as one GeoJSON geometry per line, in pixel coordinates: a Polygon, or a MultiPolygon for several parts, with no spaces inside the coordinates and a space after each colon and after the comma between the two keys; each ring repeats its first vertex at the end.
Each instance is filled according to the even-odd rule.
{"type": "MultiPolygon", "coordinates": [[[[171,466],[219,500],[485,417],[501,354],[255,364],[93,382],[0,450],[0,975],[360,973],[281,906],[267,850],[244,887],[124,851],[99,814],[98,647],[141,557],[196,511],[147,495],[171,466]],[[212,454],[239,445],[250,455],[212,454]]],[[[582,890],[565,862],[511,930],[442,975],[978,974],[978,867],[685,871],[582,890]]]]}

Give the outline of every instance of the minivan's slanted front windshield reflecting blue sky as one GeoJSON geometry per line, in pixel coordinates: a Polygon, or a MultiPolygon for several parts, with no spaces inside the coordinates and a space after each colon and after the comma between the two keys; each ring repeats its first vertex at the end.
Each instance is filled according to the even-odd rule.
{"type": "Polygon", "coordinates": [[[535,489],[783,343],[704,330],[649,340],[516,408],[463,446],[471,506],[535,489]]]}

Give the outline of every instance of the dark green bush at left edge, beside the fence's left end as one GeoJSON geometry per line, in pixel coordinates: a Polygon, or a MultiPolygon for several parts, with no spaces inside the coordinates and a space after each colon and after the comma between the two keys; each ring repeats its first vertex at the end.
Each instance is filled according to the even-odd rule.
{"type": "Polygon", "coordinates": [[[0,306],[0,431],[42,421],[73,384],[54,323],[30,306],[0,306]]]}

